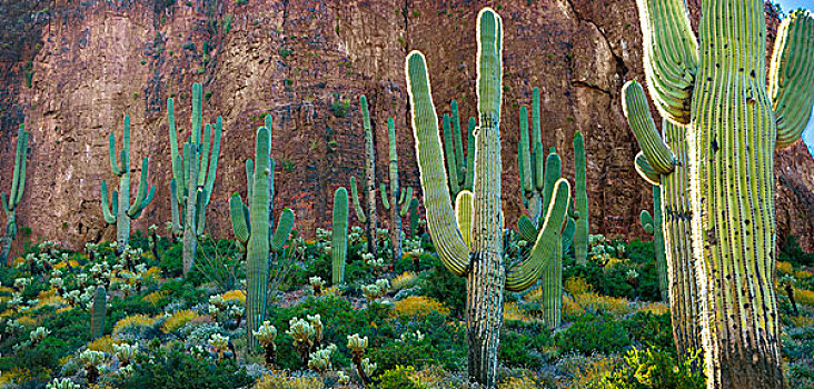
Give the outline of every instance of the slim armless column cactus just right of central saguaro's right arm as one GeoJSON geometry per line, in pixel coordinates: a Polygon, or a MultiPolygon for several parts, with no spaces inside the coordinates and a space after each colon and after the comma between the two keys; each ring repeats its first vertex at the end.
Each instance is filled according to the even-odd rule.
{"type": "Polygon", "coordinates": [[[574,134],[574,202],[577,213],[574,231],[574,256],[578,265],[588,258],[588,186],[585,166],[585,139],[582,132],[574,134]]]}

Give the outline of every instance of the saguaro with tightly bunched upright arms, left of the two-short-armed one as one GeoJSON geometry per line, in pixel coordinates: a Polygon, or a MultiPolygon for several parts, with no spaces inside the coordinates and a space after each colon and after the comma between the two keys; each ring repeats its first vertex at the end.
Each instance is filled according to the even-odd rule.
{"type": "Polygon", "coordinates": [[[188,142],[183,143],[183,156],[179,153],[176,134],[176,114],[172,98],[167,99],[169,121],[170,157],[172,180],[170,202],[172,209],[172,235],[183,229],[183,275],[192,268],[198,248],[198,236],[204,233],[206,208],[212,196],[215,176],[220,154],[220,133],[224,119],[218,117],[215,126],[207,123],[201,139],[202,94],[200,83],[192,84],[192,128],[188,142]],[[211,146],[211,153],[209,147],[211,146]]]}

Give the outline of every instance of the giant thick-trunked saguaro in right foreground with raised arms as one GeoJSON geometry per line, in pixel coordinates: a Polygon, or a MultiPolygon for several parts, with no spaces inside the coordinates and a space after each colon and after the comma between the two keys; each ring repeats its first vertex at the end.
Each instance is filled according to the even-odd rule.
{"type": "MultiPolygon", "coordinates": [[[[814,101],[814,18],[795,11],[781,23],[766,87],[764,1],[702,0],[697,40],[684,1],[637,4],[651,97],[662,117],[688,124],[692,256],[707,387],[783,388],[772,285],[774,150],[800,138],[814,101]]],[[[646,130],[637,134],[644,157],[666,174],[659,170],[676,150],[655,127],[646,130]]]]}

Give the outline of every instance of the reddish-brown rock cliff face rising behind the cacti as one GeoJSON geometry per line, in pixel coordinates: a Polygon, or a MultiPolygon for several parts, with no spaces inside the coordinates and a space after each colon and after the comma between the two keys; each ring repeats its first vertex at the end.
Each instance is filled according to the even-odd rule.
{"type": "MultiPolygon", "coordinates": [[[[312,235],[330,223],[334,190],[363,174],[360,94],[375,121],[380,182],[387,181],[386,120],[393,117],[403,184],[419,188],[404,81],[409,50],[427,57],[439,114],[451,99],[461,121],[475,114],[479,7],[467,0],[3,1],[0,36],[11,43],[0,46],[0,190],[8,191],[12,136],[24,122],[31,151],[18,219],[30,228],[27,239],[79,248],[113,238],[100,210],[100,181],[115,178],[107,137],[121,137],[128,113],[131,160],[150,156],[149,181],[157,186],[133,230],[163,226],[171,178],[166,100],[175,97],[186,138],[191,84],[202,82],[205,120],[224,117],[209,232],[231,236],[228,198],[246,194],[244,161],[269,113],[275,209],[292,208],[296,228],[312,235]]],[[[515,162],[519,106],[539,87],[543,143],[557,148],[567,178],[574,177],[572,137],[585,134],[592,232],[644,237],[637,220],[653,207],[651,187],[633,169],[638,147],[619,106],[622,84],[644,80],[635,1],[507,0],[497,10],[506,29],[507,223],[523,211],[515,162]]],[[[770,24],[776,28],[776,20],[770,24]]],[[[135,196],[140,163],[132,169],[135,196]]],[[[796,235],[814,249],[814,160],[797,143],[777,152],[776,173],[781,236],[796,235]]]]}

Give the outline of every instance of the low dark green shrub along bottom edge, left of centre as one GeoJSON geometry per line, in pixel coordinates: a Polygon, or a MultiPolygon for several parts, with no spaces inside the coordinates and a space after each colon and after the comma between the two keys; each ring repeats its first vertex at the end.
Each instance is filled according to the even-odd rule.
{"type": "Polygon", "coordinates": [[[133,371],[120,377],[117,388],[241,388],[252,382],[246,369],[231,359],[195,358],[175,345],[169,350],[157,349],[138,355],[133,371]]]}

